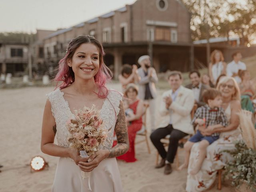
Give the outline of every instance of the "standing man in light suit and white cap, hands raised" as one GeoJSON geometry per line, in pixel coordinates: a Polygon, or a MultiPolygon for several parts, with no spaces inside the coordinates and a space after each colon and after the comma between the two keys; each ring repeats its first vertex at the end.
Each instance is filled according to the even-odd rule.
{"type": "Polygon", "coordinates": [[[155,127],[155,111],[156,111],[156,86],[155,83],[158,82],[156,75],[156,70],[151,67],[150,57],[148,55],[143,55],[138,59],[138,64],[140,68],[138,69],[138,75],[140,76],[139,92],[138,97],[141,100],[147,101],[149,103],[150,112],[150,127],[151,131],[154,131],[155,127]]]}

